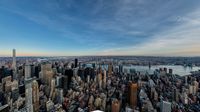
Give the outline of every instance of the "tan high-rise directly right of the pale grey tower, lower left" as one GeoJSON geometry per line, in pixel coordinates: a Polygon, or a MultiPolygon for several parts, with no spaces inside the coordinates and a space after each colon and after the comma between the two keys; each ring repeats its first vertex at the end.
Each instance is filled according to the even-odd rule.
{"type": "Polygon", "coordinates": [[[33,111],[39,111],[39,87],[38,82],[34,80],[32,82],[32,96],[33,96],[33,111]]]}

